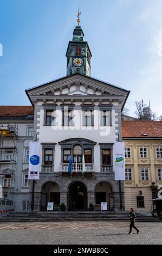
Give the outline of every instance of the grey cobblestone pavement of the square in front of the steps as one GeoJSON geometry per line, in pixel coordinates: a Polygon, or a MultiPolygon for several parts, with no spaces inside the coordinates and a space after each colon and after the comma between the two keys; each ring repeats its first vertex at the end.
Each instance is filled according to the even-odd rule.
{"type": "Polygon", "coordinates": [[[136,222],[25,222],[0,223],[0,244],[114,245],[162,244],[162,223],[136,222]]]}

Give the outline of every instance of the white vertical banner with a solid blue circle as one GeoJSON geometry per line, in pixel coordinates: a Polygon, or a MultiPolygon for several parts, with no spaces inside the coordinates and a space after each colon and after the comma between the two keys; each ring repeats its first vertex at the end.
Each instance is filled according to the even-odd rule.
{"type": "Polygon", "coordinates": [[[40,179],[40,142],[29,143],[29,180],[40,179]]]}

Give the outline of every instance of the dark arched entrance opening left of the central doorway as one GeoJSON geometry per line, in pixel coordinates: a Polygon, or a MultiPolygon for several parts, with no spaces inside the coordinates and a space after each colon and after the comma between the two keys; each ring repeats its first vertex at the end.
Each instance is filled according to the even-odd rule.
{"type": "Polygon", "coordinates": [[[60,187],[53,181],[42,186],[41,211],[47,211],[48,202],[54,202],[54,208],[60,205],[60,187]]]}

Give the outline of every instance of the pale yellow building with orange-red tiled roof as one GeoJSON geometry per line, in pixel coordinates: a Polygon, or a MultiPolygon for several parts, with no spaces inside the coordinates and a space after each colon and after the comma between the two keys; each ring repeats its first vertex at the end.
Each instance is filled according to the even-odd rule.
{"type": "Polygon", "coordinates": [[[151,214],[162,211],[157,197],[162,185],[162,122],[122,121],[125,142],[125,209],[151,214]],[[153,205],[154,204],[154,205],[153,205]]]}

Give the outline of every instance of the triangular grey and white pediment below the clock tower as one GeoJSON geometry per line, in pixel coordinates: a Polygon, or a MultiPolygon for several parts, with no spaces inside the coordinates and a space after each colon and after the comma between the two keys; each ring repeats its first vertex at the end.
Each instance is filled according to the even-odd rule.
{"type": "Polygon", "coordinates": [[[41,86],[37,86],[26,90],[29,96],[88,96],[88,95],[110,95],[110,96],[127,96],[129,91],[113,84],[106,83],[96,78],[84,76],[81,74],[75,74],[72,76],[66,76],[55,81],[51,81],[41,86]]]}

